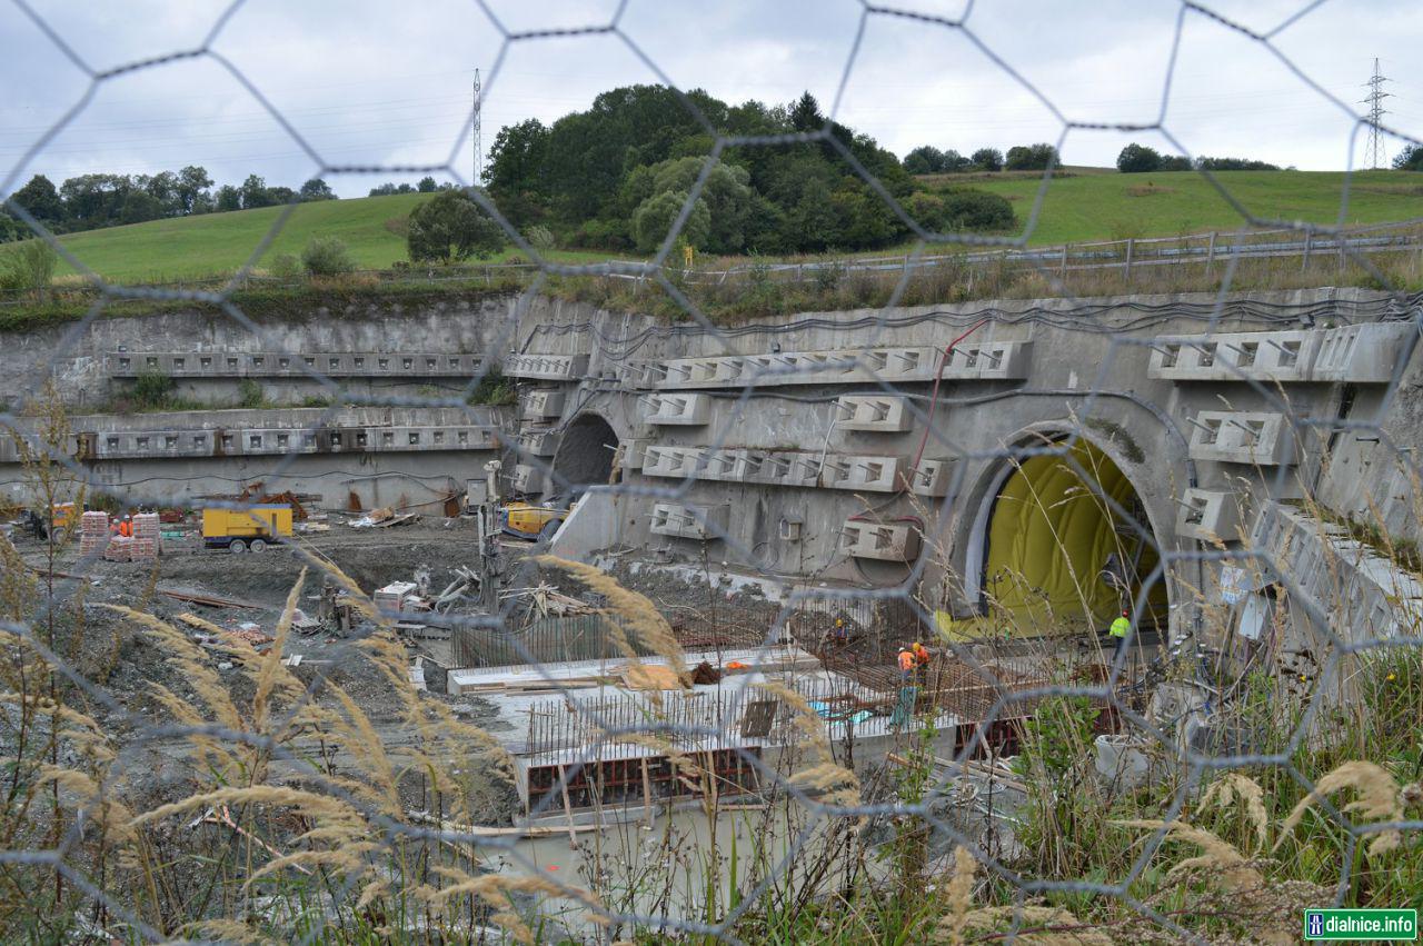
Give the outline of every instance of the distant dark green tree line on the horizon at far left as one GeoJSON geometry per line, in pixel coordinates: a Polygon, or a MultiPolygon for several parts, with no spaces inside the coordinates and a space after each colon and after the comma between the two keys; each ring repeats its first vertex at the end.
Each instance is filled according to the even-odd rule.
{"type": "MultiPolygon", "coordinates": [[[[250,211],[306,201],[334,201],[336,193],[320,178],[297,189],[268,186],[250,174],[242,184],[213,189],[206,168],[188,165],[182,171],[158,174],[81,174],[54,186],[37,174],[11,199],[54,233],[95,230],[124,223],[144,223],[175,216],[222,211],[250,211]]],[[[0,242],[31,236],[17,215],[0,206],[0,242]]]]}

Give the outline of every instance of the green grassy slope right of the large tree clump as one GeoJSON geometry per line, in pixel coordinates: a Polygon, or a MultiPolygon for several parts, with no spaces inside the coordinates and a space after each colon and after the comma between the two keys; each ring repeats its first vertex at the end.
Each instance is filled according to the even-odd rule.
{"type": "MultiPolygon", "coordinates": [[[[1318,171],[1229,171],[1221,185],[1257,216],[1335,225],[1345,175],[1318,171]]],[[[951,182],[951,178],[935,178],[951,182]]],[[[972,186],[1002,193],[1026,222],[1040,178],[979,178],[972,186]]],[[[1353,176],[1346,225],[1423,216],[1423,175],[1365,171],[1353,176]]],[[[1238,229],[1239,212],[1194,171],[1091,174],[1054,179],[1033,230],[1035,245],[1180,236],[1238,229]]]]}

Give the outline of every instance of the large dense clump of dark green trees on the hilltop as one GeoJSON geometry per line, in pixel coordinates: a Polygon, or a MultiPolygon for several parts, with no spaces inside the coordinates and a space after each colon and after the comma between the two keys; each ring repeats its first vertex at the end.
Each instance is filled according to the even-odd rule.
{"type": "Polygon", "coordinates": [[[723,134],[764,144],[731,145],[707,169],[713,137],[682,97],[663,85],[629,85],[549,125],[529,118],[499,129],[488,192],[524,232],[538,228],[562,246],[643,253],[662,245],[683,211],[680,239],[713,253],[889,246],[909,228],[877,185],[904,205],[914,198],[915,219],[929,229],[1013,225],[1012,206],[996,195],[929,192],[874,138],[827,122],[810,92],[784,105],[730,105],[702,90],[686,98],[723,134]],[[832,141],[795,139],[827,127],[832,141]]]}

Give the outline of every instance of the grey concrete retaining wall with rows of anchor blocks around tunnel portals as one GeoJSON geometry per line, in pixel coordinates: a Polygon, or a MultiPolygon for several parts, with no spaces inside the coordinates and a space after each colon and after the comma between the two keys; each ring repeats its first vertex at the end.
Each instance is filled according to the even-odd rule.
{"type": "Polygon", "coordinates": [[[71,405],[111,403],[148,358],[175,376],[194,357],[195,370],[213,358],[212,371],[236,358],[249,380],[334,370],[343,386],[366,384],[357,367],[387,358],[410,373],[393,390],[427,398],[501,367],[518,408],[462,427],[391,418],[367,424],[364,444],[343,427],[324,447],[313,431],[306,454],[295,427],[253,415],[238,458],[199,450],[194,438],[215,432],[205,421],[110,415],[85,421],[84,462],[112,488],[182,496],[186,477],[216,491],[276,468],[268,441],[287,430],[280,474],[320,475],[323,495],[366,478],[434,494],[498,450],[507,485],[535,498],[615,481],[564,529],[585,559],[710,569],[780,593],[895,592],[951,623],[992,617],[995,572],[1022,585],[1013,607],[1054,626],[1069,610],[1101,623],[1121,583],[1180,636],[1202,620],[1200,589],[1218,585],[1220,565],[1198,553],[1248,548],[1274,501],[1308,495],[1328,515],[1423,539],[1407,459],[1423,451],[1417,317],[1419,299],[1362,289],[797,313],[719,333],[512,297],[317,312],[260,337],[222,317],[164,314],[100,320],[77,339],[13,336],[0,395],[36,390],[41,366],[71,405]],[[1069,458],[1100,475],[1069,475],[1069,458]],[[1005,504],[1026,498],[1053,512],[1019,516],[1015,536],[1005,504]],[[1060,542],[1064,529],[1079,538],[1060,542]],[[1013,542],[1022,549],[1005,553],[1013,542]]]}

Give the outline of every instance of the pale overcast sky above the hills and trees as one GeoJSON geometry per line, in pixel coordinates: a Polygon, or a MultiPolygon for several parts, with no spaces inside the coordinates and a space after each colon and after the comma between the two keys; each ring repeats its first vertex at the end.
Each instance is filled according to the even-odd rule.
{"type": "MultiPolygon", "coordinates": [[[[75,3],[28,0],[97,71],[201,46],[228,0],[75,3]]],[[[896,0],[956,17],[963,0],[896,0]]],[[[1269,31],[1302,0],[1207,0],[1220,14],[1269,31]]],[[[490,0],[504,28],[608,23],[613,0],[490,0]]],[[[825,108],[848,81],[837,118],[904,155],[919,144],[970,152],[1057,141],[1067,118],[1151,122],[1163,100],[1180,11],[1173,0],[980,0],[968,26],[1017,73],[1015,80],[961,30],[871,16],[851,60],[854,0],[629,0],[620,30],[667,80],[726,101],[790,101],[803,90],[825,108]],[[1026,83],[1026,85],[1025,85],[1026,83]],[[1029,88],[1032,87],[1032,88],[1029,88]]],[[[1274,40],[1305,75],[1365,111],[1373,58],[1390,77],[1386,122],[1423,138],[1417,0],[1323,3],[1274,40]]],[[[16,6],[0,0],[0,182],[90,83],[16,6]]],[[[608,88],[659,81],[616,36],[514,43],[468,0],[249,0],[212,50],[236,67],[329,165],[443,164],[470,117],[475,67],[485,83],[484,144],[501,125],[545,122],[586,108],[608,88]],[[495,73],[495,64],[499,67],[495,73]]],[[[1353,121],[1294,75],[1265,46],[1190,11],[1168,100],[1167,128],[1191,154],[1249,156],[1302,169],[1342,169],[1353,121]]],[[[1110,165],[1151,132],[1073,131],[1067,164],[1110,165]]],[[[1355,144],[1362,162],[1365,135],[1355,144]]],[[[1392,158],[1403,142],[1387,141],[1392,158]]],[[[470,141],[454,155],[468,174],[470,141]]],[[[259,174],[297,186],[317,165],[218,61],[194,58],[102,81],[94,98],[18,168],[58,184],[84,172],[151,174],[201,164],[219,182],[259,174]]],[[[393,174],[326,175],[361,196],[393,174]]]]}

